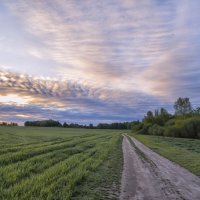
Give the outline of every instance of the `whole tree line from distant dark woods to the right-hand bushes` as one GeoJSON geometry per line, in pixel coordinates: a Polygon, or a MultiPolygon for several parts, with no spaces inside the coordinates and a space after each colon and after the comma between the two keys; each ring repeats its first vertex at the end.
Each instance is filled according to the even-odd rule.
{"type": "Polygon", "coordinates": [[[174,102],[174,114],[165,108],[147,111],[142,121],[99,123],[82,125],[78,123],[63,124],[52,119],[26,121],[25,126],[88,128],[88,129],[120,129],[132,130],[138,134],[200,138],[200,107],[193,109],[189,98],[179,97],[174,102]]]}

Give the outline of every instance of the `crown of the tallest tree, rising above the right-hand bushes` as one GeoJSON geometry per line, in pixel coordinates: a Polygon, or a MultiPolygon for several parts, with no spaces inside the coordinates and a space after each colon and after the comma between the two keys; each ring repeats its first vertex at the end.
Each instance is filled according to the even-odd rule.
{"type": "Polygon", "coordinates": [[[174,103],[175,114],[179,116],[186,115],[192,111],[192,105],[189,98],[179,97],[174,103]]]}

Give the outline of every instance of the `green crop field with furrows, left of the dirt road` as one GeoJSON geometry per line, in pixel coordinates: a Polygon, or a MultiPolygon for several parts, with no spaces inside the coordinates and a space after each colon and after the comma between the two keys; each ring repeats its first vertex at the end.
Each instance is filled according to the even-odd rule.
{"type": "Polygon", "coordinates": [[[0,127],[0,199],[117,199],[121,131],[0,127]]]}

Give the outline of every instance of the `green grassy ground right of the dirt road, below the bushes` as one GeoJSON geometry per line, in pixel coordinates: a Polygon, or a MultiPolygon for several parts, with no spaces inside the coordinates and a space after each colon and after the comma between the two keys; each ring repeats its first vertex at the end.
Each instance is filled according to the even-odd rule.
{"type": "Polygon", "coordinates": [[[200,176],[200,140],[129,133],[158,154],[200,176]]]}

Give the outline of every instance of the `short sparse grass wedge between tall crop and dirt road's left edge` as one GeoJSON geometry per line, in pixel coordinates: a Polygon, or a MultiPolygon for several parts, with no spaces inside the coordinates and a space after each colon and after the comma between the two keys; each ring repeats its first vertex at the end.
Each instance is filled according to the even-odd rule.
{"type": "Polygon", "coordinates": [[[104,200],[118,199],[120,195],[120,182],[123,155],[121,139],[115,146],[115,156],[109,158],[100,166],[99,170],[90,173],[87,181],[75,188],[73,200],[104,200]]]}

